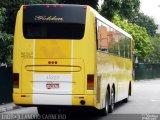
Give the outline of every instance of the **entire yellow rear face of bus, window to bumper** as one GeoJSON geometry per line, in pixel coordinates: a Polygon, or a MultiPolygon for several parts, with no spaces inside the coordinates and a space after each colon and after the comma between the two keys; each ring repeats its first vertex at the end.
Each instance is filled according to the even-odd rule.
{"type": "Polygon", "coordinates": [[[15,104],[95,106],[96,37],[87,8],[21,7],[14,35],[15,104]]]}

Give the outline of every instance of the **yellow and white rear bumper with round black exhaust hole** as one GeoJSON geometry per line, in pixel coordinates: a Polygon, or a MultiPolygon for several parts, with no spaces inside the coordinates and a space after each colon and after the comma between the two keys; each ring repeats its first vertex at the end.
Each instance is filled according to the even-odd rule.
{"type": "Polygon", "coordinates": [[[13,101],[18,105],[67,105],[94,107],[96,103],[95,100],[95,95],[13,94],[13,101]]]}

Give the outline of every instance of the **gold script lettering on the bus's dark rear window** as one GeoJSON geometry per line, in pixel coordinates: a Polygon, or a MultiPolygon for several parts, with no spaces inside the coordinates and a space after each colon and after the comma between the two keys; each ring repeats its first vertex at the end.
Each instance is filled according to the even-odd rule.
{"type": "Polygon", "coordinates": [[[63,21],[63,18],[57,16],[35,16],[34,20],[44,21],[63,21]]]}

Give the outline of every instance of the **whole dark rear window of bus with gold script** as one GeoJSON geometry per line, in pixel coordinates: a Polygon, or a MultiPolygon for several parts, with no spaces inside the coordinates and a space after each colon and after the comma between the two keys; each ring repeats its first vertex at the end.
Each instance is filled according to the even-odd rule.
{"type": "Polygon", "coordinates": [[[23,9],[23,35],[26,39],[82,39],[86,10],[83,6],[62,8],[29,5],[23,9]]]}

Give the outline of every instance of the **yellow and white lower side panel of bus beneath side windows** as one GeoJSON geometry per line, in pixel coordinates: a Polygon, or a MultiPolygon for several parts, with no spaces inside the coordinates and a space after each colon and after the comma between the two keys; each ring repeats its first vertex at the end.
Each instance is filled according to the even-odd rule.
{"type": "MultiPolygon", "coordinates": [[[[132,62],[130,59],[97,52],[97,76],[100,78],[100,103],[105,100],[108,85],[115,86],[115,102],[128,97],[129,82],[132,81],[132,62]]],[[[98,79],[97,79],[98,80],[98,79]]],[[[103,104],[99,106],[103,108],[103,104]]]]}

